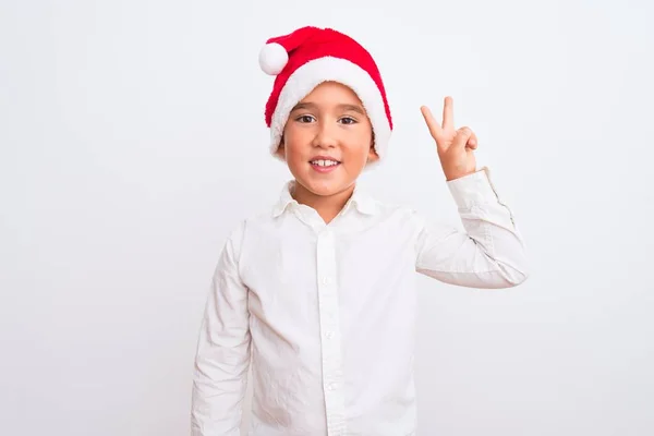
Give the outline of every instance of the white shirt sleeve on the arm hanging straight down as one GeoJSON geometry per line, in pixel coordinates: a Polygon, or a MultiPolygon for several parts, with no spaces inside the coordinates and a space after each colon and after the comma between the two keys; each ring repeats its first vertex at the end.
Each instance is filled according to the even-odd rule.
{"type": "Polygon", "coordinates": [[[192,436],[240,434],[251,342],[247,288],[238,267],[242,230],[225,244],[205,305],[193,373],[192,436]]]}

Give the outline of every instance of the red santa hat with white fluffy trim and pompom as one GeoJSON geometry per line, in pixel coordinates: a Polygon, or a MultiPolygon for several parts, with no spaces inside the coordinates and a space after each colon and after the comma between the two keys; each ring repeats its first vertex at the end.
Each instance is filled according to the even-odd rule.
{"type": "Polygon", "coordinates": [[[320,83],[334,81],[361,99],[373,126],[375,152],[384,158],[392,119],[379,70],[359,43],[331,28],[307,26],[268,39],[258,60],[265,73],[277,76],[266,104],[274,156],[293,107],[320,83]]]}

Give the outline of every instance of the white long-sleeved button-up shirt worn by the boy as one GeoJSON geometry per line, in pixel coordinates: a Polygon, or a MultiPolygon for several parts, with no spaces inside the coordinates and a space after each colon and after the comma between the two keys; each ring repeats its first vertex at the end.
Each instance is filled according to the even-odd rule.
{"type": "Polygon", "coordinates": [[[225,245],[199,330],[192,434],[240,434],[252,361],[251,436],[415,435],[415,272],[521,283],[513,215],[487,168],[447,182],[465,231],[360,189],[327,225],[292,183],[225,245]]]}

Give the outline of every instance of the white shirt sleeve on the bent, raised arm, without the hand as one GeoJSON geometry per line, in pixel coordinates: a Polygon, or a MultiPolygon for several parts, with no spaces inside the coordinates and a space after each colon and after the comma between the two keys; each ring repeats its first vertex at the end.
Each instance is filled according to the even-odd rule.
{"type": "Polygon", "coordinates": [[[416,271],[469,288],[510,288],[528,277],[522,235],[487,167],[447,182],[465,231],[421,221],[416,271]]]}

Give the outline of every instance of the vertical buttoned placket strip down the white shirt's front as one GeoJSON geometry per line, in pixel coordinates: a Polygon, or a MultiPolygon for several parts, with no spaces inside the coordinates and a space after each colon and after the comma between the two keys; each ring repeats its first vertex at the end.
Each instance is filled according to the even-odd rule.
{"type": "Polygon", "coordinates": [[[336,279],[336,243],[334,232],[328,227],[318,233],[317,278],[327,434],[328,436],[341,436],[346,435],[347,428],[337,292],[338,282],[336,279]]]}

